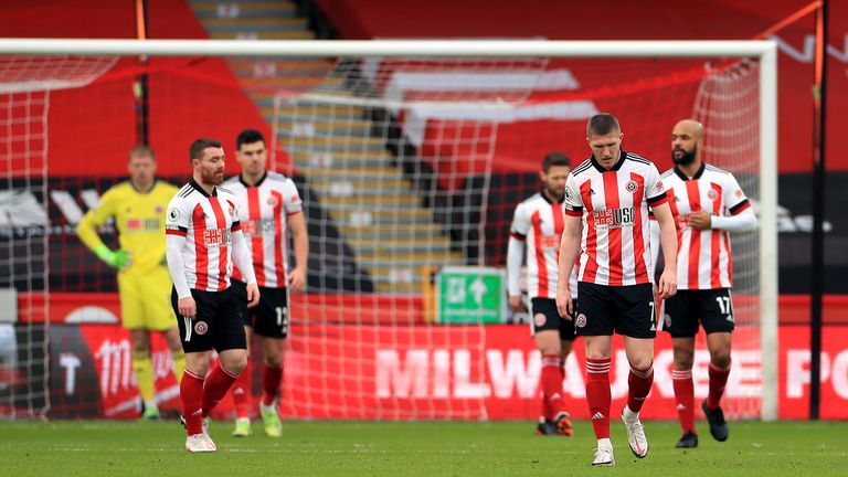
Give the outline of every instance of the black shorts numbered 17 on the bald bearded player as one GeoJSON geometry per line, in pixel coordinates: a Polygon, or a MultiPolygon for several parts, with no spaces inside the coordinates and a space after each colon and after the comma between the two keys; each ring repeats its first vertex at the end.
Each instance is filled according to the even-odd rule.
{"type": "Polygon", "coordinates": [[[706,290],[677,290],[662,304],[665,330],[672,338],[691,338],[698,335],[698,320],[703,331],[733,331],[733,303],[730,288],[706,290]]]}

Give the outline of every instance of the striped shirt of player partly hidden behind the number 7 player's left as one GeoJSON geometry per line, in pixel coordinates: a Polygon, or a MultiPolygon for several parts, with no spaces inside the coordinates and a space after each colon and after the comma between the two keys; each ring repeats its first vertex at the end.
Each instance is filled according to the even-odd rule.
{"type": "MultiPolygon", "coordinates": [[[[562,202],[551,202],[538,192],[516,208],[509,235],[527,243],[527,294],[530,298],[556,296],[560,237],[564,229],[562,202]]],[[[577,277],[571,274],[571,293],[576,297],[577,277]]]]}

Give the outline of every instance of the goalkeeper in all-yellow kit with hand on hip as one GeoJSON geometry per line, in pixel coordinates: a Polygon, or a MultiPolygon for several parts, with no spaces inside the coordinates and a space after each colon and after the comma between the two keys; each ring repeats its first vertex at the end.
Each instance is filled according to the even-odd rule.
{"type": "Polygon", "coordinates": [[[150,331],[165,336],[173,356],[177,382],[186,356],[170,304],[171,277],[165,264],[165,209],[177,187],[156,179],[153,151],[138,146],[129,151],[129,181],[103,194],[100,204],[85,214],[76,232],[85,246],[118,271],[123,325],[132,343],[132,371],[144,401],[142,418],[159,417],[150,361],[150,331]],[[115,220],[120,248],[110,250],[96,227],[115,220]]]}

